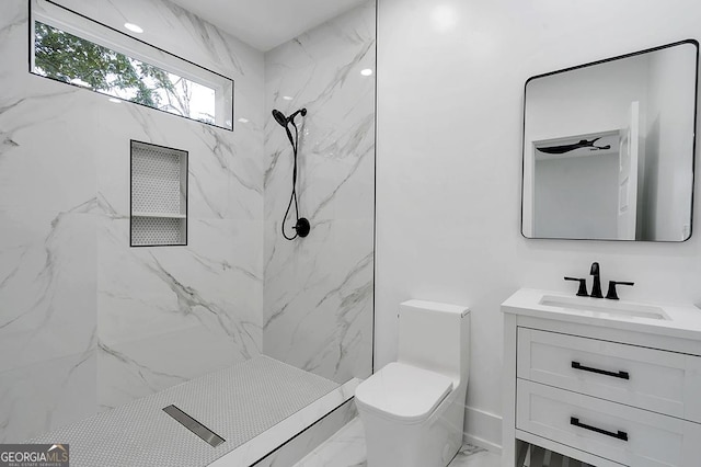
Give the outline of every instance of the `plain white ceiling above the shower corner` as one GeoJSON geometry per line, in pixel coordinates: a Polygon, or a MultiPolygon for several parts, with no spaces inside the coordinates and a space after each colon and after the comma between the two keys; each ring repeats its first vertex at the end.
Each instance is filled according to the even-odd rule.
{"type": "Polygon", "coordinates": [[[367,0],[171,0],[267,52],[367,0]]]}

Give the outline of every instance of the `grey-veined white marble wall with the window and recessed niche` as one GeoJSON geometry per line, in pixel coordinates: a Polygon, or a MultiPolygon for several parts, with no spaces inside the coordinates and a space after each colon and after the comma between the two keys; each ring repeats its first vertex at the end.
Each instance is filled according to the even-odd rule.
{"type": "Polygon", "coordinates": [[[163,0],[61,3],[138,14],[145,39],[234,79],[249,123],[32,76],[27,2],[0,2],[0,443],[262,349],[263,54],[163,0]],[[189,152],[187,247],[129,248],[129,139],[189,152]]]}

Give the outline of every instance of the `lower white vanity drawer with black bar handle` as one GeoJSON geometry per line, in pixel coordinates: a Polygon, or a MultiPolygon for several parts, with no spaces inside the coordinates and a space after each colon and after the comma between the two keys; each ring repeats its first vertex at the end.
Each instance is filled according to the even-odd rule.
{"type": "Polygon", "coordinates": [[[701,425],[518,379],[516,428],[631,467],[691,467],[701,425]]]}

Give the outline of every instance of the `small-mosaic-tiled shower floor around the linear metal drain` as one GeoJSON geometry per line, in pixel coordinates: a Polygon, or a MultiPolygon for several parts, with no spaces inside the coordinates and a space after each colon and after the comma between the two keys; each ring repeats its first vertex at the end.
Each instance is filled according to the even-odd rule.
{"type": "Polygon", "coordinates": [[[206,466],[336,388],[332,380],[258,356],[31,442],[69,444],[72,467],[206,466]],[[162,410],[170,405],[226,441],[211,447],[162,410]]]}

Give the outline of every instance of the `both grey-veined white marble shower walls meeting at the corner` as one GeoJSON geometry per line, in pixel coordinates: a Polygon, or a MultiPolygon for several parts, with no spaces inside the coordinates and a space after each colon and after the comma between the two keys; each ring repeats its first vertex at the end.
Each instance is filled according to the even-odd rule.
{"type": "Polygon", "coordinates": [[[359,71],[375,68],[375,3],[265,57],[166,0],[58,3],[115,29],[128,18],[139,38],[231,77],[234,132],[27,73],[27,2],[0,3],[0,442],[262,350],[367,376],[375,82],[359,71]],[[312,232],[288,243],[290,150],[269,111],[302,105],[312,232]],[[189,152],[188,246],[129,248],[130,139],[189,152]]]}

